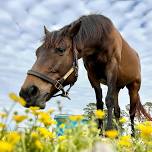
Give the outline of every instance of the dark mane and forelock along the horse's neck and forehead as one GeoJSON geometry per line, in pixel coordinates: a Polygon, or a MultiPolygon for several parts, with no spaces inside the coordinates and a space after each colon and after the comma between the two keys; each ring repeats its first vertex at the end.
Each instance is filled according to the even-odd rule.
{"type": "MultiPolygon", "coordinates": [[[[81,21],[81,27],[77,35],[74,37],[76,43],[83,43],[83,45],[95,45],[98,42],[106,39],[112,29],[112,22],[110,19],[103,15],[87,15],[82,16],[78,20],[81,21]]],[[[50,36],[44,38],[47,46],[59,43],[62,38],[67,34],[69,27],[78,22],[78,20],[72,22],[69,25],[64,26],[58,31],[53,31],[50,36]]]]}

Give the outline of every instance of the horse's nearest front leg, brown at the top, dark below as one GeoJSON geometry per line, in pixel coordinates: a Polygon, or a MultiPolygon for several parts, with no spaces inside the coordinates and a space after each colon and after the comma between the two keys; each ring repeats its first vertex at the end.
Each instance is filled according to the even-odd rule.
{"type": "Polygon", "coordinates": [[[107,86],[108,86],[107,96],[105,99],[108,110],[106,130],[111,130],[113,129],[112,112],[115,106],[114,102],[115,102],[116,81],[117,81],[117,62],[115,59],[113,59],[111,63],[107,65],[106,76],[107,76],[107,86]]]}

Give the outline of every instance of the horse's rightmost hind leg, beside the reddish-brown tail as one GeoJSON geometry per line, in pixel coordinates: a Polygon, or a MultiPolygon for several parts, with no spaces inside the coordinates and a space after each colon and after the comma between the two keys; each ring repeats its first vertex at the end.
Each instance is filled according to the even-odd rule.
{"type": "Polygon", "coordinates": [[[136,109],[138,106],[139,99],[139,89],[140,89],[140,82],[134,81],[133,83],[127,85],[127,88],[129,90],[129,96],[130,96],[130,120],[131,120],[131,130],[132,130],[132,136],[135,135],[135,129],[134,129],[134,118],[136,114],[136,109]]]}

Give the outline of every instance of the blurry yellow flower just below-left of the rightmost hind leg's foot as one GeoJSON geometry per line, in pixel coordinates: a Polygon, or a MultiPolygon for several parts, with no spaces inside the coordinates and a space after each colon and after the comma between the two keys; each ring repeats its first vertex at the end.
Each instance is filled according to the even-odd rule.
{"type": "Polygon", "coordinates": [[[120,147],[131,147],[132,141],[130,136],[121,136],[118,141],[118,146],[120,147]]]}

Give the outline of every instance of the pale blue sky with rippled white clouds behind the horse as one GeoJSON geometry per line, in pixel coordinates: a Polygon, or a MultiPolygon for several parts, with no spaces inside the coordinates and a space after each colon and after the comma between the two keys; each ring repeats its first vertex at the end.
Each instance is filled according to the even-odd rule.
{"type": "MultiPolygon", "coordinates": [[[[81,15],[102,14],[109,17],[125,40],[138,52],[142,67],[140,96],[142,103],[152,101],[152,1],[151,0],[0,0],[0,108],[12,102],[9,92],[18,94],[26,72],[35,61],[35,50],[44,36],[43,26],[59,29],[81,15]]],[[[105,98],[107,87],[103,88],[105,98]]],[[[82,113],[95,102],[82,60],[79,78],[70,92],[71,101],[54,98],[47,108],[63,105],[63,113],[82,113]]],[[[104,101],[104,99],[103,99],[104,101]]],[[[119,94],[122,109],[129,103],[128,91],[119,94]]],[[[23,110],[21,106],[16,109],[23,110]]]]}

